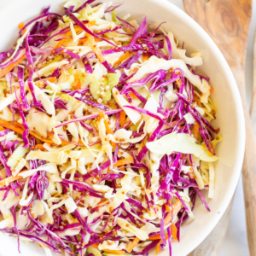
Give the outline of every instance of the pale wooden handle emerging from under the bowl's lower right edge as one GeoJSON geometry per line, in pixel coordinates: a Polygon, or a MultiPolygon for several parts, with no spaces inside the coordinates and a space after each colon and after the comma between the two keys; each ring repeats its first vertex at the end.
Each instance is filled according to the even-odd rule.
{"type": "Polygon", "coordinates": [[[233,205],[233,199],[230,201],[229,207],[224,212],[224,215],[219,220],[218,224],[212,230],[212,232],[207,236],[207,238],[201,242],[201,244],[195,248],[192,253],[188,256],[218,256],[219,250],[223,244],[224,237],[226,235],[231,208],[233,205]]]}

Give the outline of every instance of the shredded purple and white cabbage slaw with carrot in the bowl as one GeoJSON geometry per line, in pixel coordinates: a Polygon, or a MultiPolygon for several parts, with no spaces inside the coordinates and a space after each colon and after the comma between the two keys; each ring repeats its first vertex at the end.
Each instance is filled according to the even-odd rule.
{"type": "Polygon", "coordinates": [[[214,193],[216,109],[172,32],[70,0],[0,53],[0,230],[46,255],[148,255],[214,193]]]}

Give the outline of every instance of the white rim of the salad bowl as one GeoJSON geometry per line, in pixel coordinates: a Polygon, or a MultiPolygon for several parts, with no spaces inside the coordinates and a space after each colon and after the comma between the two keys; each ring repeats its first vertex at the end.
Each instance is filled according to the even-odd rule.
{"type": "MultiPolygon", "coordinates": [[[[28,0],[27,0],[28,1],[28,0]]],[[[214,43],[212,38],[205,32],[205,30],[195,21],[193,20],[185,11],[178,8],[174,3],[168,2],[168,0],[144,0],[148,1],[149,3],[154,3],[159,5],[162,8],[168,9],[168,12],[175,12],[178,15],[179,19],[183,21],[184,24],[191,27],[194,31],[198,33],[198,36],[203,40],[207,48],[212,49],[212,52],[216,55],[216,60],[218,61],[218,65],[220,69],[224,70],[224,77],[226,78],[227,84],[229,84],[230,88],[232,89],[232,98],[235,99],[235,108],[234,113],[236,118],[239,119],[237,131],[238,131],[238,143],[237,148],[239,148],[239,152],[237,151],[236,155],[236,163],[234,165],[232,180],[230,181],[230,186],[227,188],[227,191],[222,198],[222,201],[218,204],[218,213],[212,217],[211,221],[207,223],[207,225],[203,226],[201,229],[200,236],[196,236],[193,242],[190,242],[186,245],[186,248],[183,250],[184,256],[191,253],[195,247],[199,246],[199,244],[207,238],[210,232],[214,229],[214,227],[218,224],[220,218],[222,218],[226,208],[229,206],[232,196],[235,193],[236,186],[241,174],[241,167],[244,157],[245,151],[245,141],[246,141],[246,130],[245,130],[245,119],[244,113],[242,108],[241,96],[236,84],[236,79],[234,78],[233,73],[230,70],[230,67],[227,61],[224,58],[224,55],[221,53],[218,46],[214,43]]],[[[12,0],[3,8],[0,9],[0,14],[6,11],[11,10],[11,8],[15,5],[16,2],[20,2],[20,0],[12,0]]],[[[63,0],[63,3],[65,0],[63,0]]],[[[129,3],[129,2],[128,2],[129,3]]]]}

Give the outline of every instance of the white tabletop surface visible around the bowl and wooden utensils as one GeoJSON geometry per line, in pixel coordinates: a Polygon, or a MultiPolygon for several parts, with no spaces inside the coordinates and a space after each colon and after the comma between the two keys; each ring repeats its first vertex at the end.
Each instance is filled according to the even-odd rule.
{"type": "MultiPolygon", "coordinates": [[[[20,0],[22,1],[22,0],[20,0]]],[[[47,1],[47,0],[46,0],[47,1]]],[[[183,9],[182,0],[168,0],[174,3],[180,9],[183,9]]],[[[11,0],[0,0],[0,8],[2,8],[11,0]]],[[[49,1],[50,3],[50,1],[49,1]]],[[[183,9],[184,10],[184,9],[183,9]]],[[[256,6],[253,7],[253,16],[250,28],[250,35],[247,47],[247,63],[246,63],[246,84],[247,84],[247,103],[251,102],[252,87],[253,87],[253,36],[256,25],[256,6]]],[[[224,244],[218,256],[249,256],[247,247],[247,232],[245,224],[245,211],[241,178],[237,185],[235,200],[230,215],[230,224],[227,235],[224,239],[224,244]]],[[[208,256],[208,255],[206,255],[208,256]]]]}

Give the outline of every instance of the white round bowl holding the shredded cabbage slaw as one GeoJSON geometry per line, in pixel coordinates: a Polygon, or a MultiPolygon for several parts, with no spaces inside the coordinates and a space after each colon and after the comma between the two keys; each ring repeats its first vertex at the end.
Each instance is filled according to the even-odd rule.
{"type": "MultiPolygon", "coordinates": [[[[101,0],[100,2],[107,2],[101,0]]],[[[119,3],[113,0],[113,3],[119,3]]],[[[18,24],[37,16],[40,11],[51,4],[51,11],[61,10],[63,0],[14,0],[0,10],[0,50],[9,49],[18,35],[18,24]]],[[[219,160],[215,165],[216,189],[212,200],[207,199],[207,191],[203,193],[211,212],[207,212],[199,198],[195,204],[195,220],[187,220],[181,229],[180,242],[172,243],[172,255],[185,256],[197,247],[212,231],[218,220],[228,207],[241,172],[245,145],[244,117],[241,98],[236,87],[236,81],[230,67],[224,60],[216,44],[207,33],[189,15],[166,0],[127,0],[119,7],[118,15],[130,13],[138,22],[147,16],[149,24],[166,21],[163,28],[172,31],[180,44],[190,54],[200,51],[203,65],[196,69],[209,77],[213,88],[212,100],[217,107],[217,119],[213,125],[220,128],[224,141],[218,144],[219,160]]],[[[1,256],[39,256],[44,255],[44,249],[31,243],[21,242],[21,254],[17,251],[17,241],[14,238],[0,234],[1,256]]],[[[155,249],[151,255],[155,254],[155,249]]],[[[168,250],[159,254],[169,255],[168,250]]],[[[207,255],[206,255],[207,256],[207,255]]]]}

